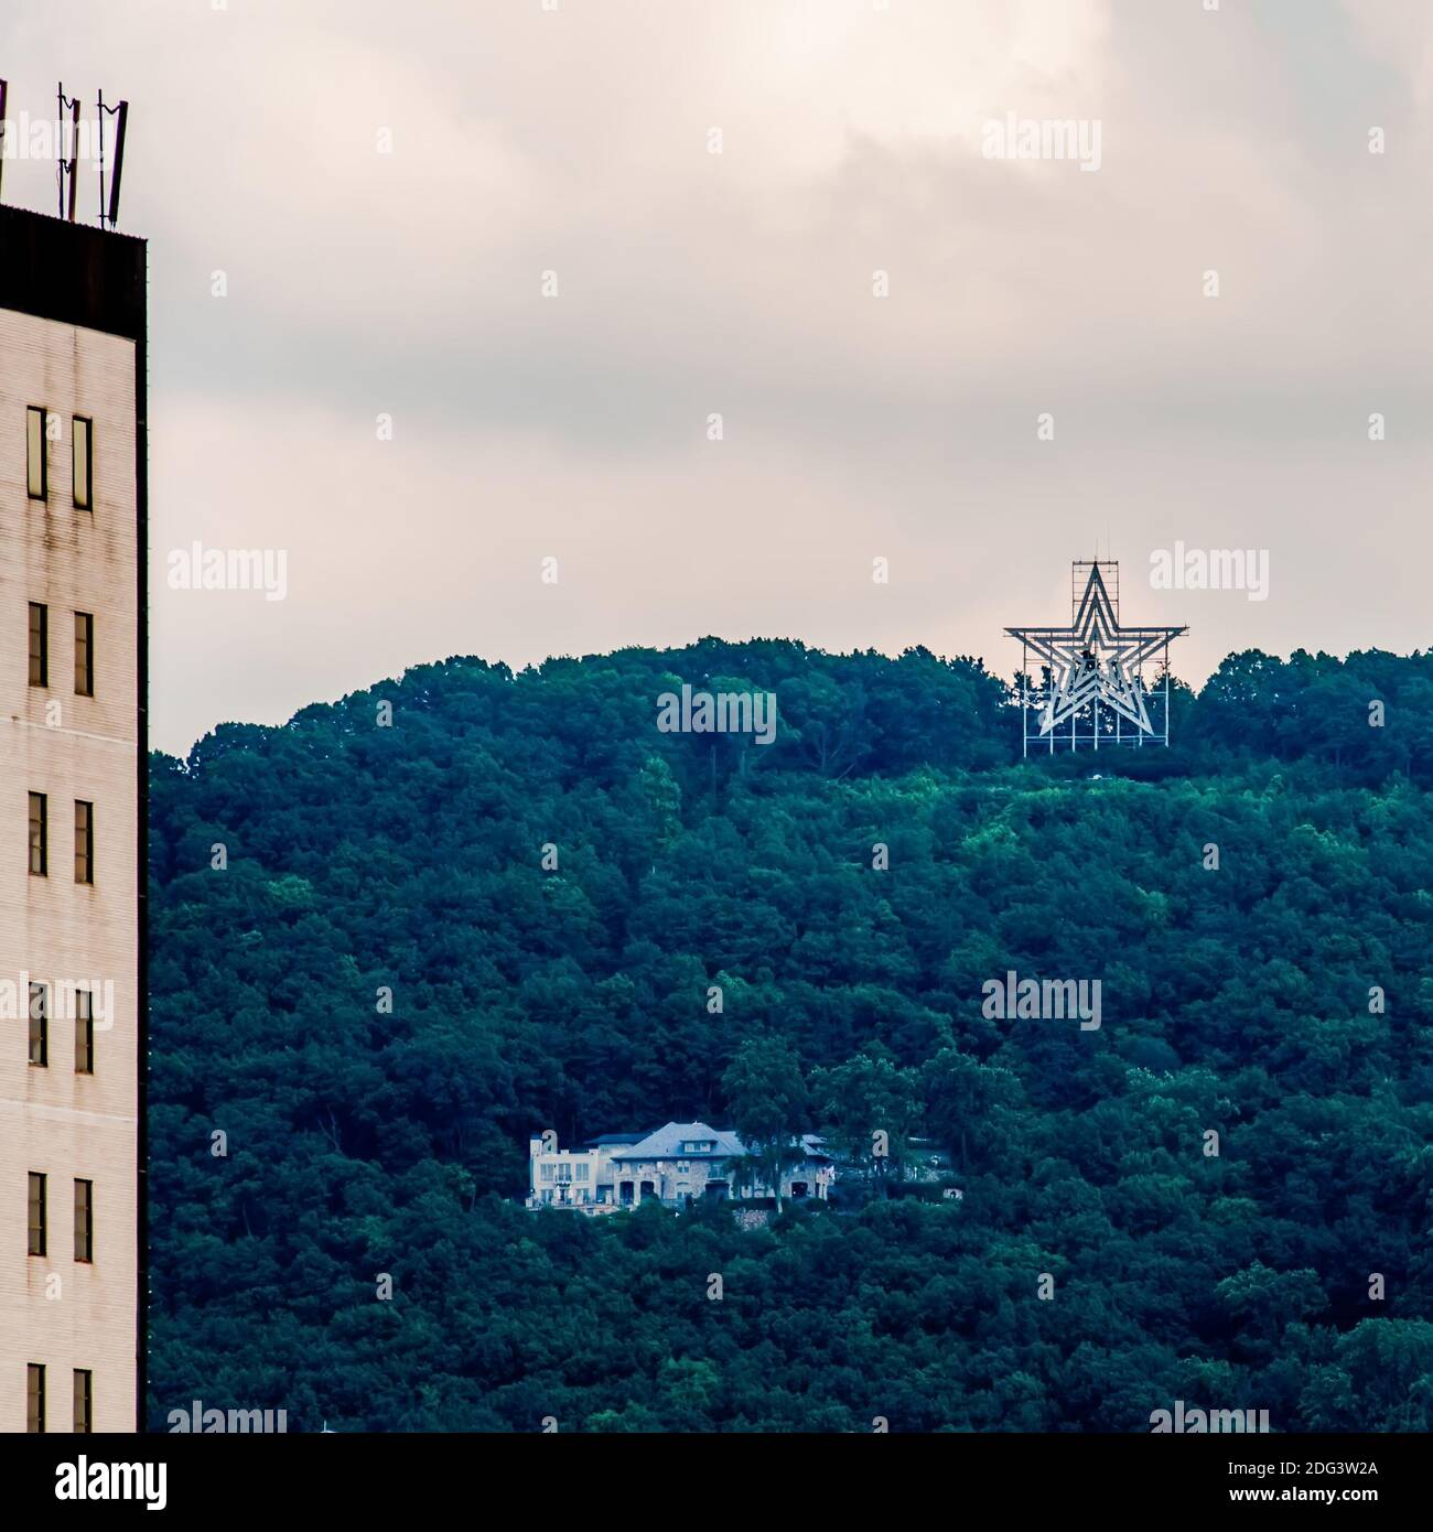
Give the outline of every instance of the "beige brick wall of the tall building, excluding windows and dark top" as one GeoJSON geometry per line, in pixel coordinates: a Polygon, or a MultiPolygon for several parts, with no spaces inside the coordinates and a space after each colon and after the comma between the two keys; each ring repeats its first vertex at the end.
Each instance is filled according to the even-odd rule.
{"type": "Polygon", "coordinates": [[[72,1368],[93,1373],[97,1431],[135,1428],[136,665],[135,346],[0,309],[0,1431],[23,1431],[26,1363],[48,1368],[51,1431],[71,1429],[72,1368]],[[25,411],[60,417],[49,498],[26,495],[25,411]],[[75,510],[71,417],[93,420],[93,510],[75,510]],[[49,607],[49,686],[29,685],[28,604],[49,607]],[[95,617],[95,697],[74,694],[74,611],[95,617]],[[58,703],[58,717],[48,705],[58,703]],[[49,797],[49,876],[28,870],[28,794],[49,797]],[[95,882],[74,881],[74,800],[95,806],[95,882]],[[95,1072],[74,1022],[28,1062],[26,976],[113,982],[95,1072]],[[49,1177],[49,1252],[26,1255],[28,1172],[49,1177]],[[95,1261],[74,1259],[72,1183],[95,1183],[95,1261]],[[51,1296],[58,1278],[58,1296],[51,1296]]]}

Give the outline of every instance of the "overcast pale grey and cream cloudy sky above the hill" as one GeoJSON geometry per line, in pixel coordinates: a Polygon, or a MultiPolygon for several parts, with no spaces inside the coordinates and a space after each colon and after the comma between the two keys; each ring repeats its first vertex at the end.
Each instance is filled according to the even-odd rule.
{"type": "Polygon", "coordinates": [[[1433,8],[1205,5],[8,3],[12,121],[132,103],[152,741],[707,633],[1008,673],[1107,550],[1194,682],[1427,647],[1433,8]],[[1007,113],[1099,169],[987,158],[1007,113]],[[285,599],[170,590],[196,539],[285,599]],[[1153,590],[1176,541],[1269,597],[1153,590]]]}

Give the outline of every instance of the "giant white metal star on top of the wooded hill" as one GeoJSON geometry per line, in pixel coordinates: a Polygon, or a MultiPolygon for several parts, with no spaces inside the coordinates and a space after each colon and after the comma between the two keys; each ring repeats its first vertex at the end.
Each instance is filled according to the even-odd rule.
{"type": "Polygon", "coordinates": [[[1041,711],[1041,734],[1048,734],[1091,702],[1105,703],[1142,732],[1153,734],[1139,679],[1140,666],[1169,639],[1188,631],[1122,628],[1099,564],[1090,565],[1085,594],[1080,596],[1079,611],[1068,628],[1005,628],[1005,633],[1028,643],[1050,665],[1053,685],[1041,711]]]}

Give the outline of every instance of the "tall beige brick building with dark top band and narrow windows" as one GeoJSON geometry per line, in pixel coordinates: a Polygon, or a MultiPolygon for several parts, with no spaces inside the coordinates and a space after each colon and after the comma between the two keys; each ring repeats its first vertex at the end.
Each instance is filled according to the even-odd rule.
{"type": "Polygon", "coordinates": [[[146,247],[0,207],[0,1431],[143,1386],[146,247]]]}

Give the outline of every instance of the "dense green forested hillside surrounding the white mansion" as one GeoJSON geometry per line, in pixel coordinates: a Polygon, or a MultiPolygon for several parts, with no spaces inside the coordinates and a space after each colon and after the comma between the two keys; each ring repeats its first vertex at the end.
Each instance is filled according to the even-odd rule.
{"type": "Polygon", "coordinates": [[[1022,764],[978,663],[705,640],[155,757],[150,1423],[1433,1428],[1433,659],[1231,657],[1174,734],[1022,764]],[[659,732],[682,682],[776,743],[659,732]],[[984,1016],[1010,970],[1099,1030],[984,1016]],[[964,1198],[513,1201],[739,1054],[964,1198]]]}

